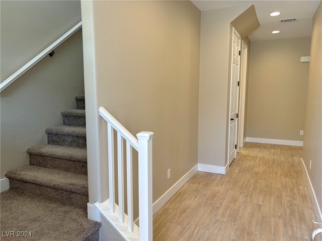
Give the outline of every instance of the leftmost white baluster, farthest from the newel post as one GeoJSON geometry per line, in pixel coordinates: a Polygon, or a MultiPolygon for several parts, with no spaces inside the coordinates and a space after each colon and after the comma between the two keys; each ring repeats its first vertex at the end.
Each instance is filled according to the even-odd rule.
{"type": "Polygon", "coordinates": [[[109,161],[109,194],[110,211],[115,212],[115,182],[114,182],[114,133],[112,126],[107,124],[108,161],[109,161]]]}

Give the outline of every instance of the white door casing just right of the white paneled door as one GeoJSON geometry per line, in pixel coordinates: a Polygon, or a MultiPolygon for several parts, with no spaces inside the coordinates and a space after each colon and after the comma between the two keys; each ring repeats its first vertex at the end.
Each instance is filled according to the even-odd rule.
{"type": "Polygon", "coordinates": [[[240,98],[239,98],[239,112],[238,112],[238,145],[244,146],[244,124],[245,124],[245,100],[246,100],[246,78],[247,78],[247,58],[248,58],[248,46],[242,41],[241,44],[241,71],[240,71],[240,98]]]}

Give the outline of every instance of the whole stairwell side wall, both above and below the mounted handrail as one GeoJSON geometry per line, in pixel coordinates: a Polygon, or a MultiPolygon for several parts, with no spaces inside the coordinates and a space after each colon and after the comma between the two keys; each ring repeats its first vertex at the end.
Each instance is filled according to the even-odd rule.
{"type": "MultiPolygon", "coordinates": [[[[49,33],[52,30],[50,26],[58,28],[61,19],[58,18],[57,21],[51,23],[53,15],[60,16],[70,11],[70,22],[67,21],[67,17],[64,17],[62,28],[58,28],[62,31],[61,35],[65,28],[67,31],[68,26],[70,28],[73,26],[75,19],[81,20],[79,1],[78,3],[77,1],[71,1],[73,3],[68,3],[68,1],[44,2],[46,1],[1,1],[2,80],[11,75],[11,71],[16,70],[12,67],[20,68],[30,60],[31,55],[34,57],[56,40],[54,38],[56,36],[53,37],[49,33]],[[77,10],[78,16],[75,16],[74,11],[77,10]],[[37,17],[40,17],[38,22],[37,17]],[[15,26],[19,28],[16,29],[15,26]],[[22,26],[24,29],[20,29],[22,26]],[[48,30],[44,30],[46,26],[48,30]],[[49,38],[47,34],[53,38],[49,38]],[[37,41],[33,42],[35,37],[37,41]],[[40,45],[38,41],[45,39],[51,43],[41,41],[41,46],[38,46],[40,45]],[[20,49],[19,54],[15,49],[17,46],[20,49]]],[[[56,30],[53,32],[59,35],[59,31],[58,33],[56,30]]],[[[55,49],[56,54],[53,57],[46,56],[1,92],[0,178],[5,178],[8,170],[29,165],[27,148],[46,143],[45,129],[62,125],[60,112],[76,107],[74,96],[84,94],[82,49],[82,30],[78,30],[55,49]]]]}

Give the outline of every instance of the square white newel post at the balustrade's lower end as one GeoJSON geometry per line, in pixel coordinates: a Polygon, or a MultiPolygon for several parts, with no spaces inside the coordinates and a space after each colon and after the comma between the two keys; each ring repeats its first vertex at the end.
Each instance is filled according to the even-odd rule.
{"type": "Polygon", "coordinates": [[[153,240],[152,224],[152,137],[153,132],[140,132],[139,167],[139,235],[140,240],[153,240]]]}

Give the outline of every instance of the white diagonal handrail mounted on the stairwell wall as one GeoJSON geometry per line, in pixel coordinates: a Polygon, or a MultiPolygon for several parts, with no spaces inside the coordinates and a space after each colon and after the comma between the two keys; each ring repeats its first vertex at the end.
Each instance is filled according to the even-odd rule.
{"type": "Polygon", "coordinates": [[[11,83],[13,83],[16,79],[18,79],[21,75],[26,73],[31,67],[37,64],[40,60],[42,60],[47,54],[49,54],[52,50],[57,48],[61,43],[63,43],[66,39],[68,39],[71,35],[73,35],[78,29],[82,27],[82,21],[72,27],[68,32],[66,32],[63,36],[57,39],[54,43],[49,45],[44,51],[30,60],[23,67],[18,69],[15,73],[13,73],[9,78],[7,78],[4,82],[0,84],[0,92],[7,88],[11,83]]]}

